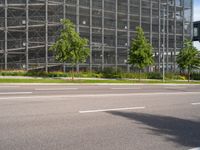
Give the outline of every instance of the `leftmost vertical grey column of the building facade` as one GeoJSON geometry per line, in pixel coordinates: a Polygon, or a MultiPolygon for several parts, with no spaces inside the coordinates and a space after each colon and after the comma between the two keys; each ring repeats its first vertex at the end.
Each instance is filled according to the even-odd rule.
{"type": "Polygon", "coordinates": [[[8,69],[8,2],[5,0],[5,49],[4,49],[4,69],[8,69]]]}

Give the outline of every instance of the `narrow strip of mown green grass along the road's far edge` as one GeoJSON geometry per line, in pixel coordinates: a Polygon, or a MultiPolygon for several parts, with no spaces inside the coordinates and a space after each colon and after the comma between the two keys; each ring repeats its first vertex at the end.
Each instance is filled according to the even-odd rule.
{"type": "MultiPolygon", "coordinates": [[[[163,83],[162,80],[64,80],[64,79],[0,79],[0,83],[163,83]]],[[[165,83],[187,84],[187,81],[166,81],[165,83]]],[[[200,81],[193,81],[190,84],[200,84],[200,81]]]]}

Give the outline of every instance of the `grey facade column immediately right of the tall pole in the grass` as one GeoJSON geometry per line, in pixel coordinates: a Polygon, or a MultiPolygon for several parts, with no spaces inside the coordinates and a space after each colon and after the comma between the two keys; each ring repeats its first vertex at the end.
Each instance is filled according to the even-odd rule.
{"type": "Polygon", "coordinates": [[[169,67],[169,0],[167,0],[167,6],[166,6],[166,23],[167,23],[167,31],[166,31],[166,71],[168,72],[169,67]]]}

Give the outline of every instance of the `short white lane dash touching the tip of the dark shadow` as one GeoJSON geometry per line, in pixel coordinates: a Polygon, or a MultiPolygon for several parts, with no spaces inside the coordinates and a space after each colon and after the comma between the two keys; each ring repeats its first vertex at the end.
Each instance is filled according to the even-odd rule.
{"type": "Polygon", "coordinates": [[[145,109],[146,107],[128,107],[128,108],[114,108],[114,109],[97,109],[97,110],[86,110],[79,111],[80,114],[85,113],[97,113],[97,112],[108,112],[108,111],[120,111],[120,110],[137,110],[137,109],[145,109]]]}

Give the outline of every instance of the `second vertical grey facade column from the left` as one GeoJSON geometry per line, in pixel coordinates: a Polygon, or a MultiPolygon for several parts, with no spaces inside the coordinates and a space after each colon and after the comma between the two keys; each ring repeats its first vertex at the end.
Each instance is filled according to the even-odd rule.
{"type": "Polygon", "coordinates": [[[29,70],[29,0],[26,0],[26,71],[29,70]]]}

